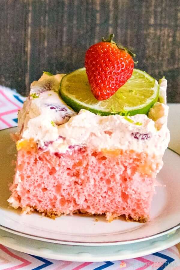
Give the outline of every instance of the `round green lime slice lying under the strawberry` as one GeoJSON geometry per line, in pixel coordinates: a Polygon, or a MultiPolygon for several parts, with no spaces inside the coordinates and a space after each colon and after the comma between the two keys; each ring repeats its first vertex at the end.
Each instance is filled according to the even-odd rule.
{"type": "Polygon", "coordinates": [[[147,114],[158,100],[158,82],[146,72],[134,69],[131,78],[110,98],[98,101],[91,92],[85,67],[67,74],[61,80],[60,95],[67,105],[105,116],[110,114],[147,114]]]}

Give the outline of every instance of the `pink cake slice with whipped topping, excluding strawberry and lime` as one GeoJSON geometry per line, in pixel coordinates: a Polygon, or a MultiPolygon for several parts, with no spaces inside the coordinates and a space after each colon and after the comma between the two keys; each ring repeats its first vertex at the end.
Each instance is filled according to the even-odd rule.
{"type": "Polygon", "coordinates": [[[170,135],[166,79],[148,116],[77,114],[43,74],[18,114],[16,174],[8,199],[26,213],[105,214],[146,222],[170,135]]]}

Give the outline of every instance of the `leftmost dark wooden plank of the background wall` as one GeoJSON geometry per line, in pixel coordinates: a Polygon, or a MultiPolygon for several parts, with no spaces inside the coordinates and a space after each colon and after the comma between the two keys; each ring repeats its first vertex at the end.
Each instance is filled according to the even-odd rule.
{"type": "Polygon", "coordinates": [[[29,1],[0,2],[0,84],[27,94],[29,1]]]}

